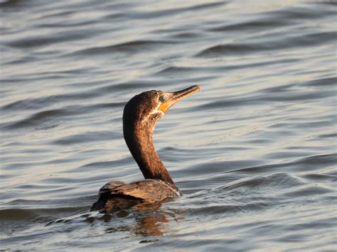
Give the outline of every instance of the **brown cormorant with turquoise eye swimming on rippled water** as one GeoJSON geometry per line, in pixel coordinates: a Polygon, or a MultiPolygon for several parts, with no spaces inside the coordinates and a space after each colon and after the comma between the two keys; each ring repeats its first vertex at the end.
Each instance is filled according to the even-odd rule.
{"type": "Polygon", "coordinates": [[[123,111],[124,140],[144,180],[107,182],[100,188],[90,211],[114,213],[136,204],[156,204],[182,195],[156,153],[154,128],[173,104],[200,89],[194,85],[177,92],[151,90],[137,94],[127,102],[123,111]]]}

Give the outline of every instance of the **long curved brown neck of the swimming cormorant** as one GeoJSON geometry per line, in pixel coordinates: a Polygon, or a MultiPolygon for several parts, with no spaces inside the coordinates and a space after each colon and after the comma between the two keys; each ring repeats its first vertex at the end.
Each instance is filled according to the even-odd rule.
{"type": "Polygon", "coordinates": [[[161,162],[154,148],[152,124],[126,124],[124,121],[124,139],[134,160],[146,179],[159,179],[174,185],[174,182],[161,162]]]}

